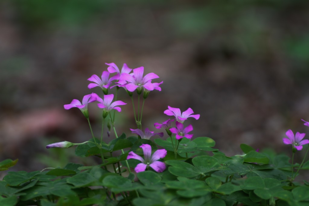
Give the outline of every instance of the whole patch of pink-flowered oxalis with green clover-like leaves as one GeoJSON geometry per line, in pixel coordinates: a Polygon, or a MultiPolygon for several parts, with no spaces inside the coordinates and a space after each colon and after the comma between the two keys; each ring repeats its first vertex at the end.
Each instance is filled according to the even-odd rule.
{"type": "MultiPolygon", "coordinates": [[[[266,150],[259,152],[246,144],[240,145],[243,154],[227,157],[214,148],[213,139],[193,138],[190,134],[193,126],[187,125],[186,120],[200,117],[191,108],[181,112],[168,106],[163,113],[170,119],[143,129],[144,103],[151,91],[161,90],[163,82],[153,83],[153,79],[159,78],[154,73],[143,76],[143,67],[131,73],[126,64],[121,71],[114,63],[107,65],[108,71],[101,77],[94,74],[88,79],[91,81],[88,88],[99,86],[102,94],[91,93],[82,102],[74,99],[64,105],[65,109],[77,107],[82,111],[91,138],[83,143],[63,141],[46,146],[76,146],[78,157],[95,156],[100,164],[68,163],[63,168],[8,172],[0,181],[0,206],[309,205],[309,182],[295,181],[296,177],[301,179],[300,170],[309,169],[309,161],[305,162],[309,140],[303,140],[304,133],[297,132],[294,136],[292,130],[286,132],[283,143],[292,145],[291,158],[266,150]],[[110,77],[111,74],[114,75],[110,77]],[[136,123],[128,136],[116,130],[117,113],[126,104],[117,100],[121,89],[131,98],[136,123]],[[115,90],[114,94],[108,94],[111,90],[115,90]],[[89,121],[88,104],[94,102],[102,109],[99,137],[94,136],[89,121]],[[165,134],[150,131],[163,128],[165,134]],[[113,140],[107,142],[109,135],[113,140]],[[301,158],[298,151],[303,146],[306,153],[299,164],[294,157],[301,158]]],[[[303,121],[309,126],[309,122],[303,121]]],[[[0,162],[0,170],[16,163],[17,160],[4,160],[0,162]]]]}

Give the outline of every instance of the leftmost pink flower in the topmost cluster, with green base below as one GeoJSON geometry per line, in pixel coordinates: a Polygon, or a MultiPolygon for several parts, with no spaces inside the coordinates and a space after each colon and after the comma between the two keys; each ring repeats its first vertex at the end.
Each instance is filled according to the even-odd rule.
{"type": "Polygon", "coordinates": [[[104,91],[104,94],[107,95],[107,89],[109,88],[110,84],[112,83],[113,80],[115,79],[119,79],[120,74],[116,74],[115,76],[109,78],[109,72],[108,71],[104,71],[102,73],[101,78],[98,77],[98,75],[93,74],[90,78],[88,78],[87,80],[91,81],[91,82],[95,82],[95,83],[90,83],[88,85],[88,88],[94,88],[96,86],[99,86],[102,88],[102,90],[104,91]]]}

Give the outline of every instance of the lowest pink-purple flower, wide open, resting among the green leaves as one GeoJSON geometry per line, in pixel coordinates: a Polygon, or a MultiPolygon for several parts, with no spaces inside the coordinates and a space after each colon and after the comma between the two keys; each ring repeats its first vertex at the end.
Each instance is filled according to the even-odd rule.
{"type": "Polygon", "coordinates": [[[148,166],[150,166],[152,169],[154,169],[156,172],[163,172],[166,169],[165,163],[157,161],[160,158],[164,158],[167,154],[167,151],[165,149],[158,149],[151,155],[151,146],[147,144],[142,144],[139,146],[143,149],[144,152],[144,158],[141,156],[135,154],[134,152],[129,152],[127,159],[137,159],[141,161],[142,163],[139,163],[135,167],[135,172],[143,172],[146,170],[148,166]]]}

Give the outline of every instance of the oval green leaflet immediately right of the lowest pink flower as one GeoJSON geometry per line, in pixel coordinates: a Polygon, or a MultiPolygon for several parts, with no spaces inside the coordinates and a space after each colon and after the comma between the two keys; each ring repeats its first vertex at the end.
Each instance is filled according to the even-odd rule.
{"type": "Polygon", "coordinates": [[[168,167],[168,171],[176,176],[190,178],[196,177],[200,174],[204,175],[203,172],[201,172],[196,167],[187,162],[181,162],[178,160],[167,160],[165,163],[171,165],[171,167],[168,167]]]}

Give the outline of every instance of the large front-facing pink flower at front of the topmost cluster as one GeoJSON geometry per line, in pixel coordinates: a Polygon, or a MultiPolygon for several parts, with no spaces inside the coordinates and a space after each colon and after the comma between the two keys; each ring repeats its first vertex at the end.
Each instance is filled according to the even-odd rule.
{"type": "Polygon", "coordinates": [[[130,92],[133,92],[136,89],[138,89],[141,92],[142,88],[145,88],[150,91],[154,90],[155,86],[153,85],[153,83],[150,82],[150,80],[159,78],[159,76],[156,75],[155,73],[149,73],[146,74],[145,77],[143,77],[143,74],[144,74],[144,67],[139,67],[133,69],[133,76],[127,73],[122,73],[120,76],[120,80],[129,82],[128,84],[125,85],[125,88],[130,92]]]}

